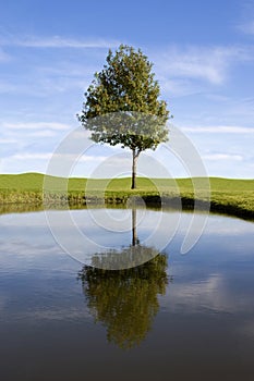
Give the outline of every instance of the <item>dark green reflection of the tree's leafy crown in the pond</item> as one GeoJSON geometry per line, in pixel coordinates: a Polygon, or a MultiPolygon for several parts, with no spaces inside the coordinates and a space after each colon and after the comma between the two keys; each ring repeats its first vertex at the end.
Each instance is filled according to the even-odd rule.
{"type": "Polygon", "coordinates": [[[145,339],[159,309],[157,295],[166,292],[166,268],[161,254],[124,270],[84,266],[78,279],[95,321],[107,327],[109,342],[131,348],[145,339]]]}

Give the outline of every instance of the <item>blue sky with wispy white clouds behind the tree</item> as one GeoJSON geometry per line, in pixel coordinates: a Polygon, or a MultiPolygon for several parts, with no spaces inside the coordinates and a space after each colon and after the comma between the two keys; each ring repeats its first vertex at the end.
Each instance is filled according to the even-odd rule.
{"type": "MultiPolygon", "coordinates": [[[[207,174],[254,179],[249,0],[0,1],[0,173],[47,172],[62,139],[82,131],[84,93],[120,44],[141,48],[154,63],[170,123],[194,145],[207,174]]],[[[93,175],[110,155],[110,147],[94,147],[70,175],[93,175]]],[[[153,155],[170,175],[188,175],[173,153],[153,155]]]]}

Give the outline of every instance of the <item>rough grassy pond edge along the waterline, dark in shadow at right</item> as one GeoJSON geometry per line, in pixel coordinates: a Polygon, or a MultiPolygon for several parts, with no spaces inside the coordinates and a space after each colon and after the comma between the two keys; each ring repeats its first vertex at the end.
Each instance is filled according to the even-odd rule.
{"type": "MultiPolygon", "coordinates": [[[[35,209],[45,210],[45,209],[82,209],[87,205],[89,207],[130,207],[128,206],[128,200],[132,194],[128,192],[126,194],[114,195],[110,193],[104,198],[93,196],[86,197],[84,194],[73,194],[69,193],[68,198],[62,194],[50,194],[50,197],[44,199],[43,193],[31,193],[31,192],[12,192],[11,195],[15,195],[16,199],[13,200],[13,197],[4,197],[4,201],[0,201],[0,214],[2,213],[12,213],[20,211],[34,211],[35,209]]],[[[5,195],[7,196],[7,195],[5,195]]],[[[190,196],[182,195],[181,197],[174,195],[162,195],[162,198],[156,194],[135,194],[132,196],[134,205],[145,205],[148,208],[164,208],[174,209],[174,210],[185,210],[193,211],[194,207],[198,211],[209,210],[211,213],[219,213],[235,218],[241,218],[244,220],[254,221],[254,209],[243,208],[238,202],[222,202],[216,199],[210,201],[204,199],[194,199],[190,196]],[[162,202],[162,204],[161,204],[162,202]]]]}

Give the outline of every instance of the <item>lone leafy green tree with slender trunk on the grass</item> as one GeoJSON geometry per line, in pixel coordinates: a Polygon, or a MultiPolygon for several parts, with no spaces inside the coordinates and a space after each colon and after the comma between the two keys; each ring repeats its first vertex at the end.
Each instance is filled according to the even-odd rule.
{"type": "Polygon", "coordinates": [[[132,189],[136,188],[137,158],[168,140],[167,103],[152,73],[153,63],[138,49],[121,45],[85,93],[78,120],[92,131],[92,139],[132,150],[132,189]],[[99,116],[99,118],[96,118],[99,116]]]}

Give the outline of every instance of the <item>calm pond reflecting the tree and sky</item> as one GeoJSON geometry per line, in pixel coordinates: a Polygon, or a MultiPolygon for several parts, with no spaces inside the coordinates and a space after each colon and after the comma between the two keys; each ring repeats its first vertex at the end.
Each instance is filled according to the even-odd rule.
{"type": "Polygon", "coordinates": [[[158,210],[105,212],[48,212],[71,214],[82,250],[41,210],[0,216],[1,380],[253,380],[254,223],[210,214],[181,255],[192,213],[164,211],[153,235],[158,210]],[[133,248],[150,260],[89,266],[133,248]]]}

